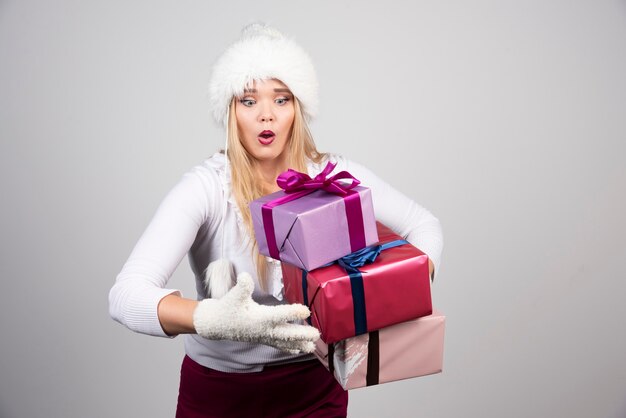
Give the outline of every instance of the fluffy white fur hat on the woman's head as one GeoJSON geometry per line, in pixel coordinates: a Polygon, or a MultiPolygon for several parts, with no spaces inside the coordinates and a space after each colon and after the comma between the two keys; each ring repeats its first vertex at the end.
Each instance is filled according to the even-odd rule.
{"type": "Polygon", "coordinates": [[[218,124],[226,126],[233,96],[241,96],[255,80],[275,78],[298,98],[307,119],[317,114],[317,77],[311,59],[293,40],[262,23],[242,30],[213,66],[209,106],[218,124]]]}

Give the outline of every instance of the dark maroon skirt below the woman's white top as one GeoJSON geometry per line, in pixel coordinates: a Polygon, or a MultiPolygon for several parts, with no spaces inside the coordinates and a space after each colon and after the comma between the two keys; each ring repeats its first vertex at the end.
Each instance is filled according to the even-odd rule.
{"type": "Polygon", "coordinates": [[[176,418],[345,417],[348,392],[317,360],[225,373],[185,356],[176,418]]]}

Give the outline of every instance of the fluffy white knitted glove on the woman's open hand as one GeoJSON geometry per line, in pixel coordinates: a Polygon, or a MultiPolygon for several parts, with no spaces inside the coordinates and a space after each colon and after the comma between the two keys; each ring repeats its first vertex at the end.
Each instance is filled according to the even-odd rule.
{"type": "Polygon", "coordinates": [[[210,340],[247,341],[271,345],[290,353],[311,353],[320,337],[309,325],[290,324],[306,319],[309,308],[300,304],[265,306],[252,300],[254,282],[248,273],[220,299],[202,300],[193,313],[198,335],[210,340]]]}

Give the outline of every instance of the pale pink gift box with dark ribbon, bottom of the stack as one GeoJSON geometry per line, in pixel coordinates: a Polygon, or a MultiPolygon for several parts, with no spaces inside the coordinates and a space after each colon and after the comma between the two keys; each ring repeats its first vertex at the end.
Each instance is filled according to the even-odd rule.
{"type": "Polygon", "coordinates": [[[435,310],[337,343],[318,340],[314,354],[346,390],[426,376],[442,370],[444,329],[435,310]]]}

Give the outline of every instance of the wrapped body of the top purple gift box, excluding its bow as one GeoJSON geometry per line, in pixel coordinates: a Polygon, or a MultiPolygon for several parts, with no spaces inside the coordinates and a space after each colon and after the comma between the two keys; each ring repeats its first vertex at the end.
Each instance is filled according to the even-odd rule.
{"type": "MultiPolygon", "coordinates": [[[[254,233],[263,255],[272,257],[263,206],[287,195],[279,191],[250,203],[254,233]]],[[[313,270],[378,241],[372,195],[366,187],[356,186],[347,196],[316,190],[273,206],[270,216],[278,259],[304,270],[313,270]],[[347,206],[348,199],[351,206],[347,206]],[[360,208],[360,215],[347,211],[354,206],[360,208]]]]}

